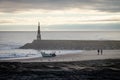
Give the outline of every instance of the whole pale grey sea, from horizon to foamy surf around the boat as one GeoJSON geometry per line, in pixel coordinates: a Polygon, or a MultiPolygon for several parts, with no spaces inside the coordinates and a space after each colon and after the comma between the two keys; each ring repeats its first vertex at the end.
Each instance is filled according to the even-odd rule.
{"type": "MultiPolygon", "coordinates": [[[[0,60],[42,57],[40,50],[19,49],[36,39],[36,31],[0,31],[0,60]]],[[[120,40],[120,31],[42,31],[42,40],[120,40]]],[[[82,50],[42,50],[57,55],[82,50]]]]}

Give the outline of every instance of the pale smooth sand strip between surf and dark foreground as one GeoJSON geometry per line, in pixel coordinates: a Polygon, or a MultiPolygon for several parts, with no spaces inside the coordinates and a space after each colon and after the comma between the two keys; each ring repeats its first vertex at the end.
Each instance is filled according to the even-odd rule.
{"type": "Polygon", "coordinates": [[[103,55],[98,55],[97,50],[84,50],[82,52],[57,55],[56,57],[1,60],[1,62],[70,62],[102,59],[120,59],[120,50],[103,50],[103,55]]]}

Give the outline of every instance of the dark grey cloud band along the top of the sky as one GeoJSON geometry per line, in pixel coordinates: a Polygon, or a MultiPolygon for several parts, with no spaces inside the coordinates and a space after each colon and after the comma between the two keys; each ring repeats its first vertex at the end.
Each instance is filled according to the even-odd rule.
{"type": "Polygon", "coordinates": [[[0,11],[3,12],[29,9],[61,10],[70,8],[120,12],[120,0],[0,0],[0,11]]]}

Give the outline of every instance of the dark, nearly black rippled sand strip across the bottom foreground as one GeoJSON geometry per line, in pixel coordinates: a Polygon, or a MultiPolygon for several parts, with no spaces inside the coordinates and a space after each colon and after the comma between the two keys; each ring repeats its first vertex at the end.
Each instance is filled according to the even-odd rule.
{"type": "Polygon", "coordinates": [[[120,80],[120,59],[1,62],[0,80],[120,80]]]}

